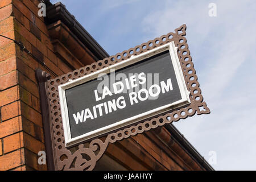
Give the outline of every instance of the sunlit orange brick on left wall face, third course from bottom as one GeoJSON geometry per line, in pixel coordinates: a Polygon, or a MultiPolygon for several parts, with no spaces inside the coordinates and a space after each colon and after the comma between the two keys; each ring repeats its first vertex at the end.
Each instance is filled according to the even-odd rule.
{"type": "Polygon", "coordinates": [[[16,117],[0,123],[0,138],[9,136],[22,130],[21,117],[16,117]]]}

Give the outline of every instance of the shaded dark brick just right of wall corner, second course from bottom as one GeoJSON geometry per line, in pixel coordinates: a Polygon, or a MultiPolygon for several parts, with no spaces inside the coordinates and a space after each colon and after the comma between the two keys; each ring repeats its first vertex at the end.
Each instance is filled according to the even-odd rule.
{"type": "Polygon", "coordinates": [[[24,147],[26,147],[28,150],[34,152],[35,154],[38,154],[39,151],[45,151],[44,144],[39,140],[36,140],[26,133],[23,134],[23,138],[24,147]]]}

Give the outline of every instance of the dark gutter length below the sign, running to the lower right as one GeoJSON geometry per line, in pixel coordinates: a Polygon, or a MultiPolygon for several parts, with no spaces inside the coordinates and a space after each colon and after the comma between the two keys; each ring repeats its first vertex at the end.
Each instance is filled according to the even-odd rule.
{"type": "Polygon", "coordinates": [[[210,164],[200,155],[200,153],[192,146],[191,143],[188,142],[186,138],[184,138],[183,134],[180,133],[177,128],[170,124],[164,126],[172,135],[172,137],[180,143],[180,145],[184,148],[185,151],[188,152],[189,155],[192,156],[193,159],[196,160],[202,167],[204,167],[208,171],[214,171],[214,168],[210,166],[210,164]]]}

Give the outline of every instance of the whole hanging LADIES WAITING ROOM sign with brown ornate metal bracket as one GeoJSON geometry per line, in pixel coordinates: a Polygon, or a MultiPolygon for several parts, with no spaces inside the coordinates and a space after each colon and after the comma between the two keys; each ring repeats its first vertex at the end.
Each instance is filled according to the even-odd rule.
{"type": "Polygon", "coordinates": [[[185,30],[59,77],[36,70],[48,169],[92,170],[110,143],[210,113],[185,30]]]}

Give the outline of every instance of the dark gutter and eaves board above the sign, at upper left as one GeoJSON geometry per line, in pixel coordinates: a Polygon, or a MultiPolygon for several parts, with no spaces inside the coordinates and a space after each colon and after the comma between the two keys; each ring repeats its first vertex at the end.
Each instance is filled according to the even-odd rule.
{"type": "Polygon", "coordinates": [[[80,41],[98,58],[102,60],[109,57],[109,54],[93,39],[93,37],[85,30],[84,27],[76,20],[61,2],[52,5],[51,2],[45,1],[46,9],[46,24],[51,24],[61,20],[80,41]]]}

